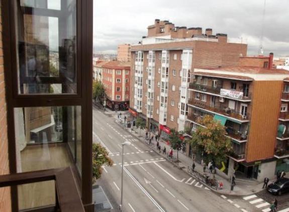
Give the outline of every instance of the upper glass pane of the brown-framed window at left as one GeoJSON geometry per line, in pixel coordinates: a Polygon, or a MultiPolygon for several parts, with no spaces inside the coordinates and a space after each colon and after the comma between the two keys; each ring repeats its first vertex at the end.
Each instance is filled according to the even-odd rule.
{"type": "Polygon", "coordinates": [[[76,0],[16,2],[18,93],[76,94],[76,0]]]}

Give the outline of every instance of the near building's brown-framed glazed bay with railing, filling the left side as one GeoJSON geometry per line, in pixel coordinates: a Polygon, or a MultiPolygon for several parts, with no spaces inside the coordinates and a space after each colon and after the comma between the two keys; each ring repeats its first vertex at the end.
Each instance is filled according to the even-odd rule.
{"type": "Polygon", "coordinates": [[[0,211],[93,211],[92,1],[1,1],[0,22],[0,211]]]}

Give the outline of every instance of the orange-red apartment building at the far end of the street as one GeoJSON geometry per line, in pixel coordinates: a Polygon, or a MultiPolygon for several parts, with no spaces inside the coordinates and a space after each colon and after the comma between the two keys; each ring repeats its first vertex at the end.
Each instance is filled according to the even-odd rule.
{"type": "Polygon", "coordinates": [[[102,83],[105,87],[106,106],[112,110],[127,110],[130,100],[130,63],[109,61],[102,66],[102,83]]]}

